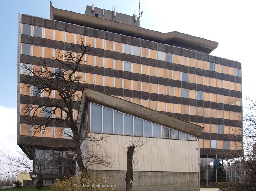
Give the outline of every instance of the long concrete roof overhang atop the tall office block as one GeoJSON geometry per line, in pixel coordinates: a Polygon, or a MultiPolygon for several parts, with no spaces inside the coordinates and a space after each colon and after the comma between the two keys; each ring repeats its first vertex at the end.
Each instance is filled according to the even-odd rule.
{"type": "Polygon", "coordinates": [[[184,33],[179,33],[176,31],[161,33],[158,31],[131,26],[129,24],[118,23],[116,21],[57,9],[52,6],[51,2],[50,19],[87,26],[94,29],[110,31],[127,36],[133,36],[181,48],[187,48],[189,50],[199,51],[205,54],[210,54],[218,46],[217,42],[184,33]]]}

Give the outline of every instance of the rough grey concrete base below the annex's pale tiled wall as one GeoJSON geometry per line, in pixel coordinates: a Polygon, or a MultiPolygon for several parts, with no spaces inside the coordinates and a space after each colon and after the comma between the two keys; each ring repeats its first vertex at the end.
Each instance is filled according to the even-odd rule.
{"type": "MultiPolygon", "coordinates": [[[[125,191],[126,171],[103,171],[108,185],[115,191],[125,191]]],[[[133,191],[198,191],[197,172],[133,171],[133,191]]]]}

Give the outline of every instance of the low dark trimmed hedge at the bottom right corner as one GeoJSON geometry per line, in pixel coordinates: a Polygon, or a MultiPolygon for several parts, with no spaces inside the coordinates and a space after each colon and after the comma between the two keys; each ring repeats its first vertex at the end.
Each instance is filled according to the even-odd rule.
{"type": "Polygon", "coordinates": [[[249,185],[241,182],[215,182],[219,191],[249,191],[249,185]]]}

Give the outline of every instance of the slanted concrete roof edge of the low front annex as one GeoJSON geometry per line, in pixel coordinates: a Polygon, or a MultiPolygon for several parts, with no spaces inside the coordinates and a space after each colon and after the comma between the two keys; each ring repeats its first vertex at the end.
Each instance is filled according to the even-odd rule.
{"type": "MultiPolygon", "coordinates": [[[[88,102],[93,102],[95,104],[121,111],[196,137],[199,137],[203,130],[203,127],[199,125],[195,125],[171,115],[85,87],[82,93],[80,111],[86,110],[88,102]]],[[[83,119],[84,112],[79,112],[77,122],[80,126],[83,119]]]]}

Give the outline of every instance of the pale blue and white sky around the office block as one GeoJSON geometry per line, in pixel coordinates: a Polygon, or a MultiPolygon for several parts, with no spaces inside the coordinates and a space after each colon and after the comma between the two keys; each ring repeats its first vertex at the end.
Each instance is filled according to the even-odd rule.
{"type": "MultiPolygon", "coordinates": [[[[0,52],[0,150],[17,147],[17,42],[18,14],[49,19],[49,0],[1,0],[0,52]],[[5,143],[5,144],[2,144],[5,143]]],[[[55,8],[85,13],[86,5],[138,15],[139,0],[52,0],[55,8]]],[[[140,27],[178,31],[219,43],[211,55],[242,63],[243,104],[256,99],[256,1],[238,0],[141,0],[140,27]]],[[[0,159],[1,160],[1,159],[0,159]]]]}

